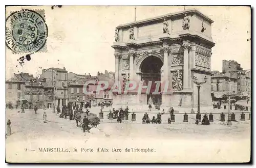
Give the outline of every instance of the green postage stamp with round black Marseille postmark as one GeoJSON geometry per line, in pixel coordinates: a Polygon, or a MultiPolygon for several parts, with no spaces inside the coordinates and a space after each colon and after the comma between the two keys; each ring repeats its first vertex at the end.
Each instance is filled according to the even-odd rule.
{"type": "Polygon", "coordinates": [[[14,53],[46,50],[48,28],[44,11],[22,10],[6,18],[6,46],[14,53]]]}

